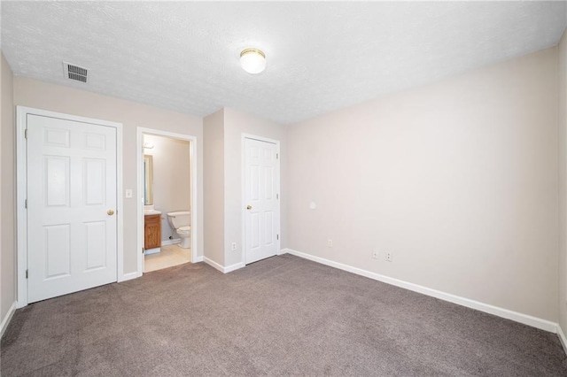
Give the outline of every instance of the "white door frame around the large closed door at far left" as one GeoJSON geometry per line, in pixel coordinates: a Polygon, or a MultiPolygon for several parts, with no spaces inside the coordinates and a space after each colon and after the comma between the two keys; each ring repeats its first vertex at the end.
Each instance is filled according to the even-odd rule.
{"type": "Polygon", "coordinates": [[[27,143],[26,127],[27,115],[39,115],[49,118],[73,120],[82,123],[91,123],[98,126],[116,128],[116,251],[117,251],[117,280],[124,281],[124,213],[122,206],[122,124],[108,120],[78,117],[62,112],[50,112],[25,106],[16,106],[16,232],[17,232],[17,281],[18,297],[17,307],[27,305],[27,143]]]}

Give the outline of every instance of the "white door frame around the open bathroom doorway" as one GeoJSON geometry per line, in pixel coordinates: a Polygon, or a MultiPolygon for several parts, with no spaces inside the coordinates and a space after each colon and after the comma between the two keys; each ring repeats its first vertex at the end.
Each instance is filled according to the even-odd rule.
{"type": "MultiPolygon", "coordinates": [[[[137,208],[137,274],[142,276],[144,273],[144,134],[165,136],[172,139],[185,140],[189,143],[190,156],[190,190],[191,190],[191,262],[198,262],[198,207],[197,207],[197,137],[185,134],[175,134],[173,132],[160,129],[137,127],[136,128],[136,164],[137,164],[137,189],[136,189],[136,208],[137,208]]],[[[162,213],[167,216],[167,213],[162,213]]]]}

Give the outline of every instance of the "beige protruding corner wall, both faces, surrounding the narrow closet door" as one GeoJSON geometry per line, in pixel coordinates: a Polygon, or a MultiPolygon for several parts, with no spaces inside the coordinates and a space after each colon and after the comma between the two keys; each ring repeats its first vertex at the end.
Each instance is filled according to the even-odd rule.
{"type": "MultiPolygon", "coordinates": [[[[205,134],[205,245],[206,258],[225,267],[243,261],[242,135],[280,141],[283,155],[285,127],[224,108],[204,119],[205,134]],[[237,242],[237,250],[232,250],[237,242]]],[[[281,165],[284,170],[284,163],[281,165]]],[[[281,197],[284,196],[282,191],[281,197]]],[[[285,207],[282,205],[282,245],[285,207]]],[[[284,247],[284,246],[282,246],[284,247]]]]}

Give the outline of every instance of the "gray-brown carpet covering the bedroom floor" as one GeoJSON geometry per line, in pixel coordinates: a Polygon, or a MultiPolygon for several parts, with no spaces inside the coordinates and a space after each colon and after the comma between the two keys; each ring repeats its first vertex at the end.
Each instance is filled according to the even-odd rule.
{"type": "Polygon", "coordinates": [[[17,311],[2,376],[567,376],[556,335],[302,258],[202,263],[17,311]]]}

